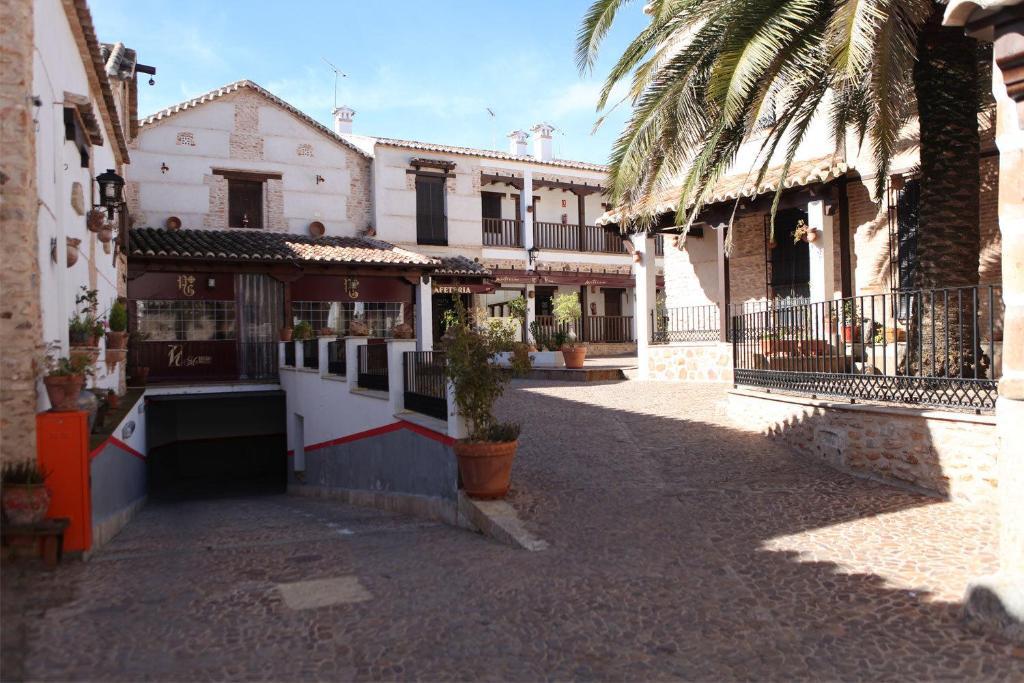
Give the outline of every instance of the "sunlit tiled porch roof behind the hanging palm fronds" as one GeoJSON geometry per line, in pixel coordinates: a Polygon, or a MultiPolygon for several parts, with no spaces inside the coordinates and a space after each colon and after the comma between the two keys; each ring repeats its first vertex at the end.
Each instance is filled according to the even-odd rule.
{"type": "MultiPolygon", "coordinates": [[[[782,175],[782,165],[769,168],[760,183],[756,182],[756,172],[737,173],[720,178],[715,183],[715,188],[705,204],[711,205],[718,204],[719,202],[729,202],[743,197],[758,197],[759,195],[774,193],[780,185],[783,189],[787,189],[816,182],[827,182],[845,175],[847,171],[851,170],[851,166],[846,162],[839,161],[831,156],[794,162],[784,177],[782,175]]],[[[656,216],[662,213],[676,211],[679,206],[679,197],[681,194],[681,186],[668,187],[654,193],[639,205],[629,207],[628,210],[620,208],[608,211],[595,222],[597,225],[607,225],[610,223],[620,223],[624,219],[628,220],[639,216],[656,216]]]]}

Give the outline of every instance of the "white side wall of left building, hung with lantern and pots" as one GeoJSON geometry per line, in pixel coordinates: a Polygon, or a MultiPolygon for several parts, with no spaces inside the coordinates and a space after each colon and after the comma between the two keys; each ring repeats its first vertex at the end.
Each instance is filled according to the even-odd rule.
{"type": "MultiPolygon", "coordinates": [[[[100,116],[100,95],[93,92],[82,63],[71,25],[60,0],[37,0],[35,4],[35,56],[33,93],[42,100],[37,111],[36,165],[39,193],[39,269],[42,293],[43,340],[55,342],[60,354],[68,353],[68,318],[75,311],[75,297],[84,285],[99,293],[100,313],[109,310],[118,294],[118,266],[113,253],[85,226],[85,216],[71,206],[72,187],[81,183],[85,210],[95,201],[92,180],[108,168],[122,176],[124,169],[115,163],[112,140],[103,130],[103,145],[90,147],[90,168],[82,168],[74,142],[65,140],[65,92],[89,96],[93,111],[100,116]],[[67,168],[66,168],[67,167],[67,168]],[[82,240],[78,263],[67,267],[67,238],[82,240]],[[50,258],[50,242],[56,240],[56,262],[50,258]]],[[[91,67],[90,67],[91,68],[91,67]]],[[[113,252],[113,245],[111,245],[113,252]]],[[[123,364],[122,364],[123,366],[123,364]]],[[[108,372],[100,361],[89,386],[117,388],[122,368],[108,372]]],[[[38,409],[49,408],[40,381],[38,409]]]]}

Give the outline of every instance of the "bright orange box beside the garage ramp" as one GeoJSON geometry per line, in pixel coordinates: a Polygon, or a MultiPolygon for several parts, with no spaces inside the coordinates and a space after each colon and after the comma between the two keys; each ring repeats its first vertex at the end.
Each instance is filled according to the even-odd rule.
{"type": "Polygon", "coordinates": [[[92,547],[92,495],[89,480],[89,415],[82,411],[36,415],[39,465],[49,473],[49,518],[68,517],[65,552],[92,547]]]}

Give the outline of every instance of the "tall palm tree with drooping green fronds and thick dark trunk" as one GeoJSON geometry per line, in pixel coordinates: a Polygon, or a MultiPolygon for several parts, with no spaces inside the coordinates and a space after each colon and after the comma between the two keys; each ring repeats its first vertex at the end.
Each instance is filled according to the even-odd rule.
{"type": "MultiPolygon", "coordinates": [[[[593,69],[629,1],[591,5],[577,41],[581,72],[593,69]]],[[[837,151],[850,131],[870,145],[883,196],[901,130],[916,112],[915,285],[977,284],[979,55],[962,30],[942,27],[944,7],[936,0],[651,0],[649,25],[611,68],[598,102],[606,110],[612,89],[628,81],[624,101],[633,112],[609,160],[612,202],[632,213],[652,191],[679,184],[676,221],[689,224],[769,105],[774,122],[752,179],[761,182],[777,151],[784,176],[822,113],[837,151]]],[[[773,217],[780,195],[781,187],[773,217]]],[[[963,326],[954,327],[963,338],[963,326]]],[[[963,349],[944,355],[937,374],[970,370],[963,349]]]]}

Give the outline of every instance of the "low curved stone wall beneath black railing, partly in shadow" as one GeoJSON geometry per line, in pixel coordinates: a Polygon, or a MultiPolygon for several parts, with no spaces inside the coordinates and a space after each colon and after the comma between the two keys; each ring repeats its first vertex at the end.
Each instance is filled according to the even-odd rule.
{"type": "Polygon", "coordinates": [[[737,427],[844,471],[955,500],[995,500],[999,442],[993,416],[741,389],[729,392],[728,410],[737,427]]]}

